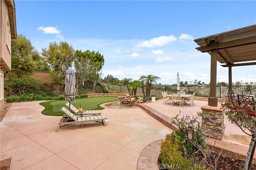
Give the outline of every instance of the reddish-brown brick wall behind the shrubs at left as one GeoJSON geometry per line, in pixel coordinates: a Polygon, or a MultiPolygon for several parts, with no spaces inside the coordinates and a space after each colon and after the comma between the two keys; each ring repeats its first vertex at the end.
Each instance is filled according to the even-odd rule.
{"type": "MultiPolygon", "coordinates": [[[[48,71],[35,71],[31,77],[39,78],[41,80],[41,83],[52,83],[52,80],[50,79],[50,73],[51,72],[48,72],[48,71]]],[[[15,70],[9,71],[5,80],[8,79],[8,76],[12,76],[15,74],[16,74],[15,70]]]]}

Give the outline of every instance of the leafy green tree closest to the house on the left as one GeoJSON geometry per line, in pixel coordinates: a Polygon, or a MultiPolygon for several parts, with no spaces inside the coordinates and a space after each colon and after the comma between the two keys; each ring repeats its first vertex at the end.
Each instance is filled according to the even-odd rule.
{"type": "Polygon", "coordinates": [[[32,55],[36,50],[24,35],[17,35],[12,39],[12,68],[16,70],[17,76],[32,75],[36,70],[32,55]]]}

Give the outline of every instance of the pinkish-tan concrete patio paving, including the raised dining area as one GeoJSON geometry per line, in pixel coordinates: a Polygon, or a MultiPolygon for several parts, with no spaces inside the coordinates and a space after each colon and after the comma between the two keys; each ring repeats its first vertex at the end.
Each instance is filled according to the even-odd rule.
{"type": "MultiPolygon", "coordinates": [[[[102,111],[102,115],[108,118],[106,126],[91,122],[84,123],[83,128],[81,124],[75,124],[61,127],[55,132],[61,117],[43,115],[41,111],[44,107],[40,102],[13,103],[0,123],[0,158],[11,158],[10,170],[153,170],[157,169],[154,162],[143,167],[143,162],[154,159],[150,158],[150,152],[143,151],[155,141],[159,145],[159,140],[172,132],[140,107],[106,107],[102,111]]],[[[196,113],[201,111],[200,107],[208,104],[206,101],[195,101],[194,107],[190,104],[171,107],[170,104],[162,103],[162,100],[157,100],[142,105],[172,117],[179,111],[196,113]]],[[[218,140],[216,145],[220,142],[221,147],[231,147],[234,153],[247,153],[250,136],[245,135],[226,117],[225,124],[225,138],[218,140]]],[[[156,157],[158,153],[155,153],[156,157]]]]}

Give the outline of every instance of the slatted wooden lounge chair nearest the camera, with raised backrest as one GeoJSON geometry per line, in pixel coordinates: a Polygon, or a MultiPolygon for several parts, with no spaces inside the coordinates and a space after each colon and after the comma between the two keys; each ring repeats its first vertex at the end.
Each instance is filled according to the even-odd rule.
{"type": "Polygon", "coordinates": [[[101,122],[104,126],[106,126],[105,119],[107,119],[106,116],[103,115],[97,115],[97,116],[84,116],[84,117],[76,117],[73,113],[71,113],[68,109],[65,107],[62,107],[61,111],[63,111],[65,114],[62,115],[62,118],[60,119],[60,123],[58,123],[56,132],[59,131],[59,128],[66,125],[81,123],[81,126],[83,127],[83,123],[86,122],[101,122]]]}

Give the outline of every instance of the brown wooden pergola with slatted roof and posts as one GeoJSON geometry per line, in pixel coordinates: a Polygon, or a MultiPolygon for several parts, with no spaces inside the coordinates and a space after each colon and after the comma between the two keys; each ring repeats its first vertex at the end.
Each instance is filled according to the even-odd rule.
{"type": "MultiPolygon", "coordinates": [[[[256,65],[256,25],[234,29],[194,40],[196,49],[211,55],[209,106],[218,106],[216,97],[217,61],[228,67],[229,90],[232,90],[232,67],[256,65]]],[[[248,73],[245,74],[255,74],[248,73]]]]}

